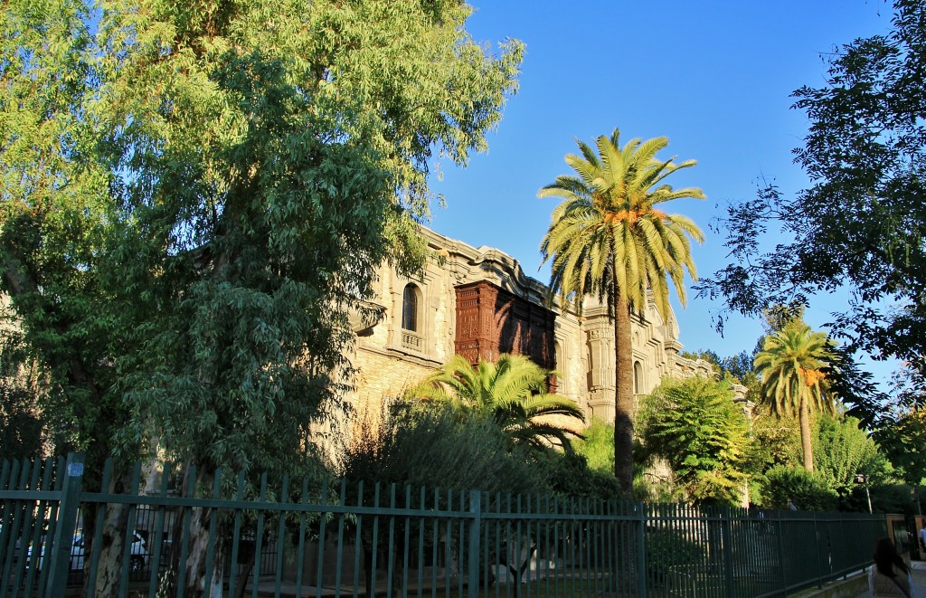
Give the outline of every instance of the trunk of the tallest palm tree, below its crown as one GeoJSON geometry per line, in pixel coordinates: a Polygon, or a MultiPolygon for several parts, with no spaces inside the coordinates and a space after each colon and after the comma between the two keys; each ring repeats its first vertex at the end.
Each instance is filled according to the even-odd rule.
{"type": "Polygon", "coordinates": [[[633,349],[631,312],[620,297],[614,315],[614,476],[629,497],[633,492],[633,349]]]}

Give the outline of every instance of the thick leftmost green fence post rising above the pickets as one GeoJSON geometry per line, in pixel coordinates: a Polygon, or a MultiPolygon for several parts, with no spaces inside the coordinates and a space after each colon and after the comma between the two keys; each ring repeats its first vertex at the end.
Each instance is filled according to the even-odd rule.
{"type": "MultiPolygon", "coordinates": [[[[68,584],[70,570],[70,551],[74,544],[74,530],[77,529],[77,510],[81,505],[81,487],[83,486],[82,453],[68,455],[65,468],[66,478],[61,488],[61,503],[58,507],[58,521],[51,553],[46,554],[44,565],[50,575],[45,585],[45,595],[63,596],[68,584]]],[[[40,557],[41,558],[41,557],[40,557]]]]}

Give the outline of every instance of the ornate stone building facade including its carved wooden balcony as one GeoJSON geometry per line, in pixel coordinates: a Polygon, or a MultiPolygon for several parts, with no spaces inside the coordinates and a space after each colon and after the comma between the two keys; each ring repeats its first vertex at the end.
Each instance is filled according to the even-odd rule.
{"type": "MultiPolygon", "coordinates": [[[[352,363],[358,370],[352,400],[377,413],[452,355],[493,360],[529,355],[557,370],[556,391],[581,405],[586,417],[614,418],[614,333],[603,305],[587,302],[582,317],[547,308],[547,287],[524,274],[518,261],[491,247],[475,248],[423,229],[433,257],[419,278],[381,268],[372,300],[379,321],[357,320],[352,363]]],[[[710,376],[710,365],[680,355],[679,327],[650,304],[634,320],[633,380],[638,396],[666,376],[710,376]]]]}

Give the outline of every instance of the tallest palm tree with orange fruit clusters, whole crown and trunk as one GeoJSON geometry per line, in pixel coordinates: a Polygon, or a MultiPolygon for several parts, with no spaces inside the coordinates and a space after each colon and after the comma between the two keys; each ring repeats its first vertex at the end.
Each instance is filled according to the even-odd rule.
{"type": "Polygon", "coordinates": [[[643,316],[652,293],[662,318],[669,315],[670,278],[685,304],[684,270],[696,278],[691,243],[704,233],[683,216],[667,214],[656,206],[673,199],[704,199],[700,189],[675,191],[662,183],[680,168],[675,158],[661,160],[665,137],[642,142],[632,139],[620,147],[620,132],[602,135],[593,148],[579,142],[582,156],[566,156],[576,176],[559,176],[544,187],[540,197],[563,201],[553,211],[541,251],[552,258],[551,293],[559,293],[564,306],[577,313],[586,295],[605,301],[614,323],[617,380],[614,415],[614,473],[625,492],[633,485],[633,373],[631,314],[643,316]],[[662,183],[662,184],[660,184],[662,183]]]}

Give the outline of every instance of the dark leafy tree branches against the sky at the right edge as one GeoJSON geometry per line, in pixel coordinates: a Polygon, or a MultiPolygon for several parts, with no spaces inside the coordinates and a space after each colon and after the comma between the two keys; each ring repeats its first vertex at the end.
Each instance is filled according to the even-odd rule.
{"type": "Polygon", "coordinates": [[[700,292],[757,315],[845,285],[853,301],[835,324],[850,344],[922,367],[926,2],[893,5],[891,31],[839,48],[825,84],[795,92],[810,123],[795,153],[813,185],[794,197],[763,185],[731,206],[724,225],[733,263],[700,292]],[[762,253],[769,237],[774,249],[762,253]]]}

